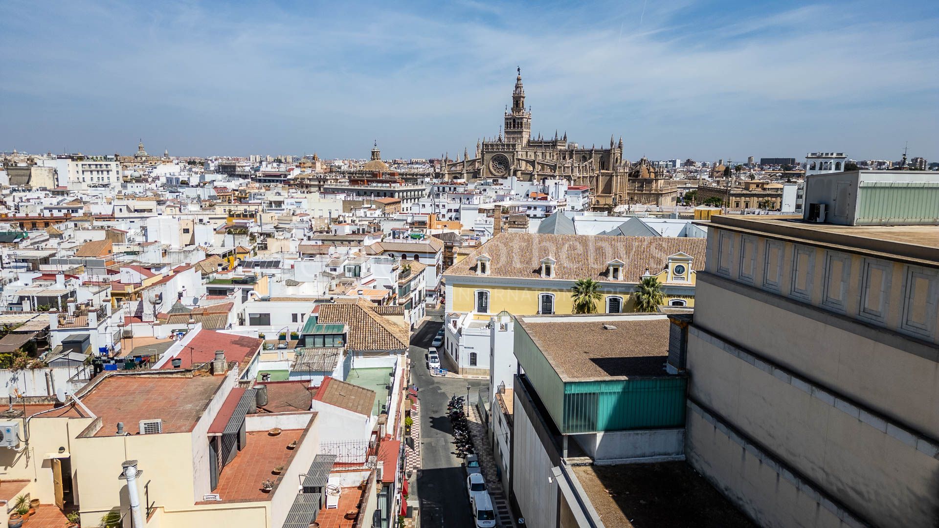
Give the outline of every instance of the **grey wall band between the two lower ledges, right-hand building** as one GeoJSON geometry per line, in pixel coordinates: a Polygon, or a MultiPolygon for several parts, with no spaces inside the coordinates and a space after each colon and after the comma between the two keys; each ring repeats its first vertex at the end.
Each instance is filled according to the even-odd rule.
{"type": "MultiPolygon", "coordinates": [[[[917,449],[916,439],[891,434],[886,429],[896,426],[862,417],[815,387],[807,392],[803,381],[787,379],[781,370],[751,365],[716,339],[692,333],[689,350],[693,400],[716,410],[852,511],[879,525],[927,526],[936,520],[939,460],[934,452],[917,449]]],[[[738,459],[731,467],[744,472],[740,464],[738,459]]]]}

